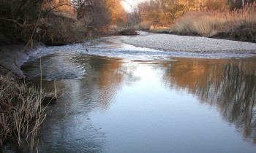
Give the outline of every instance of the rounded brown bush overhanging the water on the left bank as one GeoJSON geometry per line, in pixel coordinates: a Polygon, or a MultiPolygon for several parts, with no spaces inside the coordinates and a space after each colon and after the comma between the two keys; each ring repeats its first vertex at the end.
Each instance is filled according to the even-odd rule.
{"type": "Polygon", "coordinates": [[[35,39],[49,45],[82,42],[89,32],[84,23],[75,17],[65,17],[61,13],[50,13],[39,21],[35,39]]]}

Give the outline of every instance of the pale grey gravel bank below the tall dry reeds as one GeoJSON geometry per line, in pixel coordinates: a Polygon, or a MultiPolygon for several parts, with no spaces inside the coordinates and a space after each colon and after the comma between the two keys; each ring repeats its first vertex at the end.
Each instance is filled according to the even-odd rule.
{"type": "Polygon", "coordinates": [[[197,53],[246,53],[256,54],[256,44],[198,36],[150,34],[124,39],[124,43],[155,50],[197,53]]]}

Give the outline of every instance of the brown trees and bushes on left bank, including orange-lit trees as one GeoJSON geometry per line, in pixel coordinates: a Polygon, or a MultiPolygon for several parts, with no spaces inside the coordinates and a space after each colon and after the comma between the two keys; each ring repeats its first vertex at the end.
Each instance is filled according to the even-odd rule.
{"type": "Polygon", "coordinates": [[[1,44],[71,44],[126,23],[120,0],[3,0],[0,7],[1,44]]]}

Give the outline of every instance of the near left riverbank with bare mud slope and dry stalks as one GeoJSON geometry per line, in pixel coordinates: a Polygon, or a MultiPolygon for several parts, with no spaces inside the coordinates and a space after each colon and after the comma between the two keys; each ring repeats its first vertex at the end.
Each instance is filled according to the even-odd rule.
{"type": "Polygon", "coordinates": [[[30,152],[34,138],[46,114],[48,103],[56,96],[28,85],[20,66],[39,51],[39,44],[0,46],[0,152],[30,152]]]}

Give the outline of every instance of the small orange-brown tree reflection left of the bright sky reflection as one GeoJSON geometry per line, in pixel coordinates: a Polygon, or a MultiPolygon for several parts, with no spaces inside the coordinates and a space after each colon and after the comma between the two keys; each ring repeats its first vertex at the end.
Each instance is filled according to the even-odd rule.
{"type": "Polygon", "coordinates": [[[93,71],[99,79],[94,84],[98,86],[97,101],[103,109],[108,109],[118,90],[121,89],[124,80],[135,82],[140,79],[133,75],[133,71],[136,69],[135,66],[122,66],[123,62],[117,58],[92,56],[89,64],[90,71],[93,71]]]}

